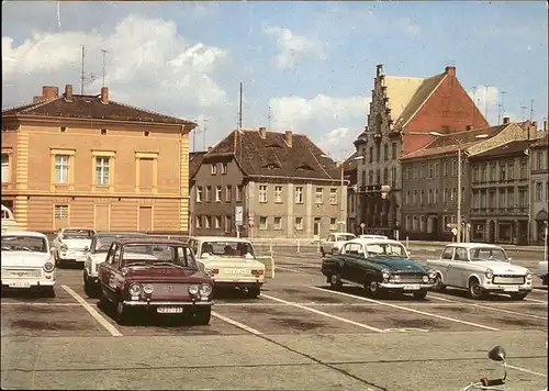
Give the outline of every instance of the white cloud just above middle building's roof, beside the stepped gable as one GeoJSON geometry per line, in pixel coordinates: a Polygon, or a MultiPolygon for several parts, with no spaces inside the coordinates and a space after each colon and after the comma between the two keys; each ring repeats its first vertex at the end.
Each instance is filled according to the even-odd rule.
{"type": "Polygon", "coordinates": [[[305,133],[335,158],[354,150],[352,142],[365,126],[370,97],[334,98],[318,94],[271,98],[269,104],[276,131],[305,133]]]}

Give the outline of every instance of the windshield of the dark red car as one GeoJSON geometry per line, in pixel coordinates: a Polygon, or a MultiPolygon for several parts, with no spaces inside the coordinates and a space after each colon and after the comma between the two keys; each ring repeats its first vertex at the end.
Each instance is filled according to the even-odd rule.
{"type": "Polygon", "coordinates": [[[191,249],[177,244],[127,244],[122,253],[124,266],[173,266],[197,269],[191,249]]]}

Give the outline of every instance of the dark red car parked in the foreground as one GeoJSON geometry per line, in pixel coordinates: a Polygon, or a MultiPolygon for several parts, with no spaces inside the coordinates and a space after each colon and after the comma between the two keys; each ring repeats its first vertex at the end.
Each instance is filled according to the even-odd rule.
{"type": "Polygon", "coordinates": [[[100,304],[116,308],[119,324],[138,312],[181,314],[193,324],[210,323],[213,280],[199,270],[192,250],[182,242],[115,239],[98,277],[100,304]]]}

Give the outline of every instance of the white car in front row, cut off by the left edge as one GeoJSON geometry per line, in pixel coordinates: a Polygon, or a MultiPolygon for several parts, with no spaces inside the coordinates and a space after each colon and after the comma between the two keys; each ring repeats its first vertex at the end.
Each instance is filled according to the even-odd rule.
{"type": "Polygon", "coordinates": [[[55,264],[47,236],[40,232],[2,232],[2,288],[32,289],[55,297],[55,264]]]}

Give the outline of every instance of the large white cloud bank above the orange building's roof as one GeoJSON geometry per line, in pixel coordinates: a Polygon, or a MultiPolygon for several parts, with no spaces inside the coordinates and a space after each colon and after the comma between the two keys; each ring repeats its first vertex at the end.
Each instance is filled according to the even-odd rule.
{"type": "MultiPolygon", "coordinates": [[[[81,45],[86,45],[85,70],[101,75],[101,49],[107,55],[105,85],[111,99],[182,118],[198,116],[227,102],[215,80],[226,60],[225,49],[187,42],[176,24],[163,19],[128,15],[110,34],[41,32],[21,45],[2,36],[2,85],[10,99],[3,105],[24,103],[40,93],[40,86],[74,83],[79,92],[81,45]],[[10,101],[11,100],[11,101],[10,101]]],[[[101,78],[86,93],[99,93],[101,78]]]]}

